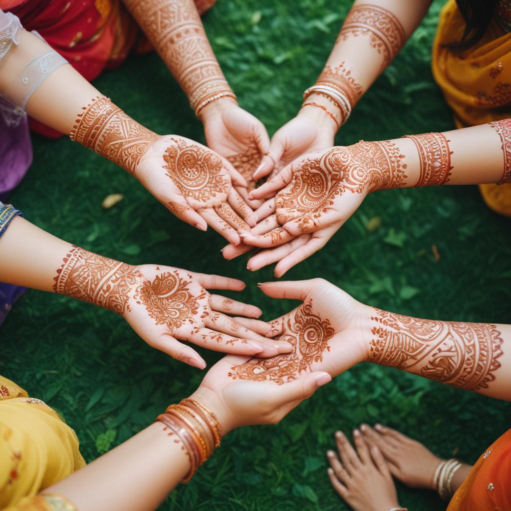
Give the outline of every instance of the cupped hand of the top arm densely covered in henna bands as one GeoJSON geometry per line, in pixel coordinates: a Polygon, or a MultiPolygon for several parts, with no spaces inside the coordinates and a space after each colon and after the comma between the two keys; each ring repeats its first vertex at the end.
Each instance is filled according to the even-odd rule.
{"type": "Polygon", "coordinates": [[[237,191],[250,207],[259,207],[261,201],[250,201],[248,192],[255,189],[253,174],[263,159],[271,164],[271,159],[265,157],[270,139],[263,123],[231,98],[210,103],[201,111],[200,118],[207,145],[227,158],[248,183],[247,188],[236,186],[237,191]]]}

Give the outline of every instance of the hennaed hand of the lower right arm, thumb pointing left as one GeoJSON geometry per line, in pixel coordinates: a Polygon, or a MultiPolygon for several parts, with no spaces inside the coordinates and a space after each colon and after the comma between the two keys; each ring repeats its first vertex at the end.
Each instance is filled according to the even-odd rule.
{"type": "Polygon", "coordinates": [[[318,370],[335,376],[367,359],[368,345],[361,322],[368,317],[370,308],[349,294],[322,278],[269,282],[262,284],[261,290],[273,298],[304,302],[270,323],[268,335],[278,336],[278,342],[286,341],[293,349],[285,355],[234,366],[234,379],[284,384],[318,370]]]}

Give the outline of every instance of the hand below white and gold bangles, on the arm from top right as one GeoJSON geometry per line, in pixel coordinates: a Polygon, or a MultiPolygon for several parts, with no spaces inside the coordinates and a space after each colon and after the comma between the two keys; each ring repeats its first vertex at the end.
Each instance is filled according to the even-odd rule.
{"type": "MultiPolygon", "coordinates": [[[[254,179],[267,176],[270,172],[270,177],[274,177],[296,158],[332,147],[336,129],[332,119],[322,110],[311,106],[302,107],[295,118],[273,135],[268,158],[262,162],[254,179]]],[[[273,195],[268,193],[266,196],[260,195],[260,198],[273,195]]]]}

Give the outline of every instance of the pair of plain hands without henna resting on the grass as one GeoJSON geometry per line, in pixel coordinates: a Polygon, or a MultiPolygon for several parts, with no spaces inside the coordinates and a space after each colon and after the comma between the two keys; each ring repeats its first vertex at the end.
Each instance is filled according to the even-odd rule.
{"type": "MultiPolygon", "coordinates": [[[[424,445],[394,429],[362,424],[353,431],[356,451],[342,431],[335,434],[337,453],[327,451],[328,476],[334,490],[356,511],[385,511],[399,506],[392,477],[413,488],[436,491],[433,476],[445,461],[424,445]]],[[[453,493],[472,466],[462,463],[454,473],[453,493]]]]}

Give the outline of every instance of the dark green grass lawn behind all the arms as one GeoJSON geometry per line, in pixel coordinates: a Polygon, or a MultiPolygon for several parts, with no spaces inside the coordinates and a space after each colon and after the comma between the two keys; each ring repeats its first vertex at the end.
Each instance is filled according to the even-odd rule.
{"type": "MultiPolygon", "coordinates": [[[[319,74],[350,3],[219,0],[205,16],[241,105],[270,135],[299,108],[301,91],[319,74]],[[257,13],[260,21],[253,23],[257,13]]],[[[430,71],[441,4],[434,2],[337,143],[453,128],[430,71]]],[[[203,142],[200,123],[156,55],[132,57],[95,84],[150,128],[203,142]]],[[[127,173],[67,138],[34,137],[34,164],[12,202],[43,229],[113,258],[242,278],[242,298],[260,305],[266,319],[291,307],[255,286],[273,278],[271,268],[253,274],[245,256],[224,261],[224,242],[212,229],[203,234],[178,221],[127,173]],[[104,211],[103,198],[119,192],[125,199],[104,211]]],[[[368,197],[326,247],[286,278],[324,277],[365,303],[404,314],[509,323],[509,227],[484,206],[476,187],[382,192],[368,197]],[[381,226],[368,230],[376,217],[381,226]]],[[[201,379],[199,370],[152,350],[121,317],[57,295],[27,292],[0,336],[0,373],[65,417],[87,461],[149,424],[201,379]]],[[[210,364],[218,358],[204,356],[210,364]]],[[[439,455],[473,462],[510,420],[507,403],[363,364],[318,390],[281,424],[228,435],[161,508],[347,509],[326,476],[324,452],[333,447],[337,428],[349,433],[362,421],[379,421],[439,455]]],[[[401,504],[414,511],[445,507],[431,493],[398,490],[401,504]]]]}

